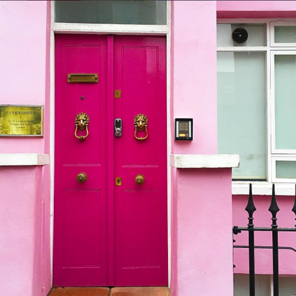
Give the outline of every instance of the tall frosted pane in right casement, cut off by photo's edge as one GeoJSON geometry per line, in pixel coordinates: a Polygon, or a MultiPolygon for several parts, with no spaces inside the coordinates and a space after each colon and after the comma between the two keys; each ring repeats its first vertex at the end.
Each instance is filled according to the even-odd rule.
{"type": "Polygon", "coordinates": [[[296,149],[296,55],[275,55],[277,149],[296,149]]]}

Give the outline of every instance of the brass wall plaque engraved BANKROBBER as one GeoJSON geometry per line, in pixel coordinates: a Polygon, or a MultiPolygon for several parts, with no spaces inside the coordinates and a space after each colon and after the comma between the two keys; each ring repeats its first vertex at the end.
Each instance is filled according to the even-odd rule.
{"type": "Polygon", "coordinates": [[[0,137],[43,137],[43,106],[0,105],[0,137]]]}

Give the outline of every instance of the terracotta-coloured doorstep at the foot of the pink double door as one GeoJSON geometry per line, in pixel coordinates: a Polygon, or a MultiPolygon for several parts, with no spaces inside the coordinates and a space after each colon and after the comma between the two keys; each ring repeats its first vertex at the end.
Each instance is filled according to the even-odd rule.
{"type": "Polygon", "coordinates": [[[167,287],[53,288],[48,296],[170,296],[167,287]]]}

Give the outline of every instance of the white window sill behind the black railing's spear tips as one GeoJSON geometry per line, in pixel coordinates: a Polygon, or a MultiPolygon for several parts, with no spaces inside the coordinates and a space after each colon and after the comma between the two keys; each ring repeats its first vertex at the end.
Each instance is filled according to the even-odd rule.
{"type": "MultiPolygon", "coordinates": [[[[272,183],[269,182],[250,182],[250,181],[233,181],[233,195],[249,195],[249,184],[252,183],[253,195],[272,194],[272,183]]],[[[274,183],[276,196],[295,196],[295,184],[293,183],[274,183]]]]}

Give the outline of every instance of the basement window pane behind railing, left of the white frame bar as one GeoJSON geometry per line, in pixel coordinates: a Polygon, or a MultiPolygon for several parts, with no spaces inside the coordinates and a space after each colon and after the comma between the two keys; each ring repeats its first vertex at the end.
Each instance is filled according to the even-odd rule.
{"type": "MultiPolygon", "coordinates": [[[[233,275],[234,296],[250,296],[249,275],[234,274],[233,275]]],[[[256,296],[270,296],[270,276],[255,275],[255,291],[256,296]]]]}

